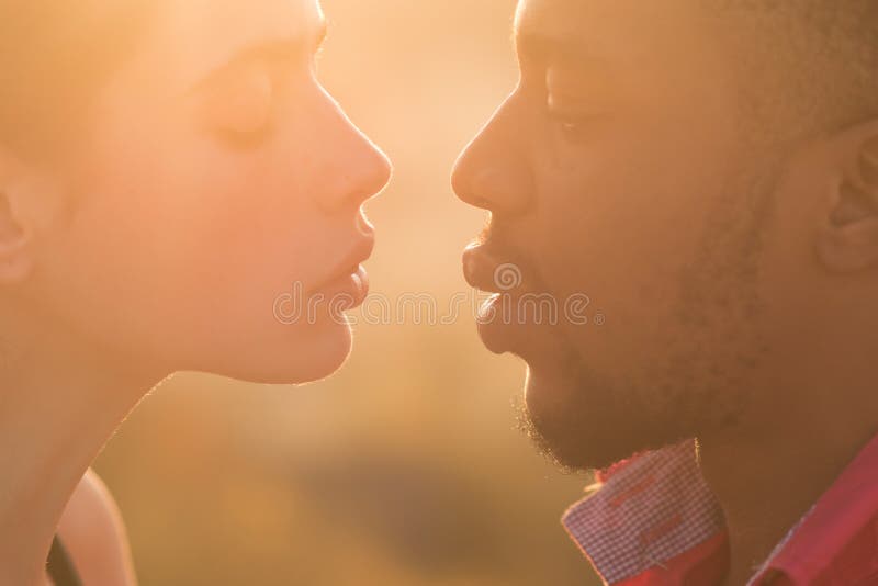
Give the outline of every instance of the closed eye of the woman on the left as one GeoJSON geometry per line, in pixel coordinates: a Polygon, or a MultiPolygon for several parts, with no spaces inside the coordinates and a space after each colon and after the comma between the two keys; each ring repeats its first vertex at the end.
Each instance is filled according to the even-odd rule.
{"type": "Polygon", "coordinates": [[[270,67],[240,64],[205,87],[200,104],[203,127],[230,148],[258,148],[273,127],[274,98],[270,67]]]}

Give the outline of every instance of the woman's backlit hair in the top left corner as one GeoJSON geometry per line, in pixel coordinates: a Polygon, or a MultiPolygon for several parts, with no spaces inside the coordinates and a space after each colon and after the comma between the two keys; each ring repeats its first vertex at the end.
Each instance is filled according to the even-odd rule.
{"type": "Polygon", "coordinates": [[[159,3],[0,0],[0,145],[29,157],[69,145],[159,3]]]}

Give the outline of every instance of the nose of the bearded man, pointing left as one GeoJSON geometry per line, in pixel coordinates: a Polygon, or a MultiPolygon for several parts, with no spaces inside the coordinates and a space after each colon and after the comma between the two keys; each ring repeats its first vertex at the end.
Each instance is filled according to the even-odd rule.
{"type": "Polygon", "coordinates": [[[464,149],[451,177],[462,201],[503,215],[527,210],[533,192],[522,131],[515,125],[510,102],[511,98],[464,149]]]}

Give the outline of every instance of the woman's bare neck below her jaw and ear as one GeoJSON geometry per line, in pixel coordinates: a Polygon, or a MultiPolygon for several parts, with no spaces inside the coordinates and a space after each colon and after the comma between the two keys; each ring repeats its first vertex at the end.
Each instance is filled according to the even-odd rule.
{"type": "Polygon", "coordinates": [[[3,336],[0,583],[31,586],[44,584],[53,537],[82,475],[161,377],[49,328],[4,328],[3,336]]]}

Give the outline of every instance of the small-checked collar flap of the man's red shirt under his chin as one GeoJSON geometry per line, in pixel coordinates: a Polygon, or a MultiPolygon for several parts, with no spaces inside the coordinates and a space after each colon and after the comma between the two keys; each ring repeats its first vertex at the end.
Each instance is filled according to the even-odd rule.
{"type": "Polygon", "coordinates": [[[607,584],[662,567],[725,526],[694,441],[635,458],[562,521],[607,584]]]}

